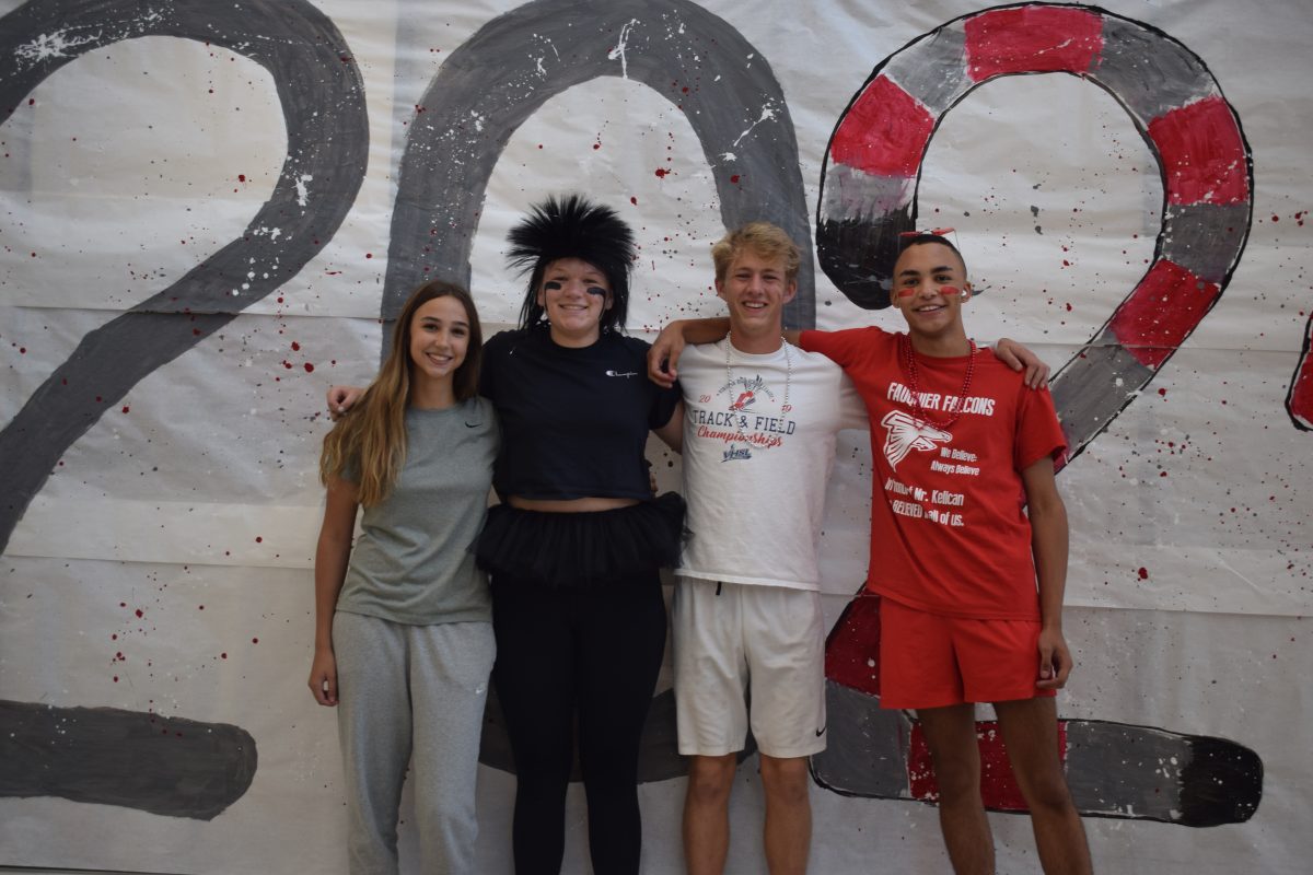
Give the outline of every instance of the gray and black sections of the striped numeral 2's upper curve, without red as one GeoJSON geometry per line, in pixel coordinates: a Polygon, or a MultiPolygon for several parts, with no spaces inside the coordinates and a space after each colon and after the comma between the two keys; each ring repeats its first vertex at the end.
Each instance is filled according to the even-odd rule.
{"type": "MultiPolygon", "coordinates": [[[[830,184],[842,184],[846,181],[843,174],[847,168],[831,161],[834,135],[867,87],[885,72],[897,71],[903,79],[915,81],[915,87],[907,89],[909,93],[926,102],[935,118],[930,139],[934,139],[947,113],[987,81],[1003,76],[1048,75],[1004,72],[979,81],[966,79],[961,34],[964,22],[1001,9],[1019,8],[1071,9],[1102,18],[1104,50],[1099,55],[1099,62],[1079,77],[1102,88],[1127,112],[1153,153],[1163,180],[1163,223],[1154,244],[1150,268],[1167,258],[1208,282],[1216,282],[1217,295],[1200,314],[1203,319],[1221,299],[1239,265],[1253,219],[1253,150],[1245,136],[1239,115],[1226,101],[1204,60],[1183,43],[1152,25],[1099,7],[1081,4],[1019,3],[978,9],[916,37],[876,66],[839,115],[826,146],[817,206],[817,257],[821,269],[859,307],[881,310],[889,306],[890,272],[898,252],[898,237],[902,232],[916,227],[916,195],[920,189],[922,167],[916,168],[915,186],[910,201],[905,203],[901,203],[897,180],[889,177],[860,182],[859,188],[865,190],[859,202],[843,203],[836,209],[836,205],[827,201],[826,177],[838,173],[839,176],[831,178],[830,184]],[[905,55],[909,50],[913,52],[905,55]],[[1149,136],[1149,122],[1203,93],[1212,93],[1226,101],[1236,122],[1245,150],[1249,185],[1249,198],[1243,203],[1167,202],[1166,172],[1158,146],[1149,136]]],[[[1067,71],[1060,72],[1074,75],[1067,71]]],[[[1111,324],[1116,315],[1115,311],[1108,316],[1103,327],[1052,380],[1053,400],[1069,446],[1060,464],[1070,463],[1102,434],[1178,349],[1174,346],[1163,350],[1166,354],[1157,365],[1140,362],[1113,336],[1111,324]]],[[[1194,327],[1186,332],[1182,342],[1192,332],[1194,327]]]]}

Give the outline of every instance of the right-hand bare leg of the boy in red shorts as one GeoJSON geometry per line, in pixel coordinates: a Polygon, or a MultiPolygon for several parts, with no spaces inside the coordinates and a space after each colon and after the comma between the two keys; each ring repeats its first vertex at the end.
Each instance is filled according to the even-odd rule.
{"type": "Polygon", "coordinates": [[[1031,809],[1040,866],[1048,875],[1090,875],[1090,847],[1058,758],[1057,706],[1052,698],[995,702],[1012,774],[1031,809]]]}

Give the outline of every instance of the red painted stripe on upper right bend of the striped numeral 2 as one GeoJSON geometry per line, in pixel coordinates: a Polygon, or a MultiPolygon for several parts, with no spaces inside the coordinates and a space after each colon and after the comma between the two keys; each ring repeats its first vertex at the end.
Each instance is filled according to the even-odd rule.
{"type": "Polygon", "coordinates": [[[1149,122],[1169,203],[1239,203],[1249,199],[1245,142],[1221,97],[1205,97],[1149,122]]]}

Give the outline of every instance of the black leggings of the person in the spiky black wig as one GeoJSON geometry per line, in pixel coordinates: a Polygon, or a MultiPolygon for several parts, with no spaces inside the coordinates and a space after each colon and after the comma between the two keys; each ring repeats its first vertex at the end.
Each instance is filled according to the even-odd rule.
{"type": "Polygon", "coordinates": [[[642,850],[638,748],[666,648],[666,605],[650,580],[549,589],[492,579],[492,677],[519,786],[516,875],[557,875],[579,725],[595,875],[637,875],[642,850]]]}

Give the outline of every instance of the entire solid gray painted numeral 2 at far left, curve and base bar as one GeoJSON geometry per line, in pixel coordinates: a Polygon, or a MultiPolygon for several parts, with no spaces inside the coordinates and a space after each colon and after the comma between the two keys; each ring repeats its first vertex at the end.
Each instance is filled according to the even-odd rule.
{"type": "MultiPolygon", "coordinates": [[[[3,118],[64,64],[138,37],[179,37],[221,46],[268,70],[286,123],[288,156],[273,193],[240,239],[83,337],[68,361],[0,432],[0,483],[5,485],[0,551],[64,450],[142,378],[295,275],[341,226],[364,181],[369,126],[360,72],[336,26],[306,0],[173,0],[156,5],[33,0],[0,18],[3,118]],[[248,278],[252,270],[255,275],[248,278]]],[[[24,708],[46,706],[11,703],[7,719],[17,719],[24,708]]],[[[117,725],[123,732],[133,720],[156,719],[144,712],[87,708],[60,714],[64,720],[76,715],[84,727],[117,725]],[[92,714],[98,718],[93,720],[92,714]]],[[[240,744],[215,741],[209,754],[196,754],[185,767],[176,757],[194,745],[177,744],[176,736],[127,732],[118,736],[123,748],[70,748],[51,744],[58,736],[49,735],[54,731],[49,720],[22,719],[13,725],[4,744],[39,750],[46,765],[32,771],[26,754],[0,758],[0,786],[17,790],[9,795],[60,795],[209,819],[246,791],[255,770],[249,735],[226,724],[189,724],[188,732],[240,744]],[[123,775],[116,788],[108,788],[104,777],[119,774],[129,748],[140,775],[123,775]],[[155,770],[161,771],[155,775],[155,770]],[[80,779],[79,773],[88,777],[80,779]],[[165,786],[169,775],[179,781],[165,786]]]]}

